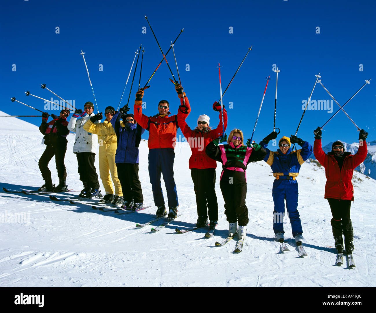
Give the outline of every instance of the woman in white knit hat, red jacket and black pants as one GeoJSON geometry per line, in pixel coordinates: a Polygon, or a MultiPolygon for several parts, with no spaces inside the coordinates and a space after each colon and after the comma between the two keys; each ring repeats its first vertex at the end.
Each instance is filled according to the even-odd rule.
{"type": "MultiPolygon", "coordinates": [[[[209,116],[203,114],[197,119],[197,127],[192,130],[185,119],[191,108],[186,103],[187,110],[183,111],[183,107],[177,113],[177,121],[184,137],[187,139],[192,155],[189,159],[189,168],[194,184],[194,193],[196,194],[197,204],[197,223],[196,226],[202,227],[208,225],[208,213],[210,221],[210,229],[214,229],[218,224],[218,202],[215,194],[215,169],[217,162],[205,153],[206,146],[215,138],[223,134],[223,124],[221,115],[221,105],[214,102],[213,109],[219,113],[219,124],[216,129],[209,126],[209,116]],[[208,208],[206,208],[206,203],[208,208]],[[209,212],[208,212],[209,211],[209,212]]],[[[223,122],[224,130],[227,128],[227,112],[223,106],[223,122]]]]}

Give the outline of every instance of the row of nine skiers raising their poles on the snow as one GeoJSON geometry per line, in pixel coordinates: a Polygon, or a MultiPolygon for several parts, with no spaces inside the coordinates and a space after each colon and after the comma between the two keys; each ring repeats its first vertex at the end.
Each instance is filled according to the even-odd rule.
{"type": "Polygon", "coordinates": [[[106,119],[102,113],[93,113],[93,104],[86,102],[84,111],[74,112],[69,123],[68,110],[62,110],[60,116],[54,116],[47,123],[48,114],[44,113],[39,127],[44,134],[45,152],[39,160],[39,168],[45,184],[41,190],[67,191],[65,184],[66,171],[64,156],[67,149],[69,131],[76,132],[73,152],[77,155],[78,172],[84,189],[81,196],[98,197],[99,182],[94,166],[95,153],[99,143],[99,172],[105,188],[102,202],[122,204],[125,209],[136,210],[143,207],[143,193],[138,178],[139,143],[145,130],[149,131],[149,176],[152,185],[156,215],[167,215],[161,187],[163,175],[168,197],[168,220],[177,216],[179,206],[176,184],[174,181],[174,146],[177,129],[183,132],[192,150],[189,168],[194,184],[197,203],[197,226],[207,226],[213,230],[218,223],[218,203],[215,194],[215,169],[217,161],[222,163],[220,188],[224,199],[224,213],[229,222],[229,236],[238,233],[240,239],[247,234],[248,209],[246,206],[247,181],[246,169],[250,162],[264,160],[273,171],[272,197],[274,201],[273,230],[276,239],[284,240],[283,217],[285,201],[288,217],[291,222],[293,237],[297,245],[303,241],[302,224],[297,210],[298,184],[300,166],[314,152],[315,157],[324,166],[326,172],[325,199],[328,199],[332,211],[332,229],[335,247],[338,252],[353,250],[353,228],[350,220],[350,205],[354,199],[351,178],[353,170],[361,164],[367,155],[365,139],[368,133],[363,129],[359,134],[359,150],[355,155],[345,152],[343,143],[336,141],[332,151],[324,153],[321,149],[321,128],[314,131],[314,147],[294,135],[283,136],[278,141],[279,149],[270,151],[267,146],[270,140],[277,138],[277,132],[268,134],[259,144],[244,144],[244,135],[240,129],[233,129],[227,139],[224,130],[227,127],[227,113],[224,105],[214,102],[214,111],[219,112],[217,128],[209,126],[208,115],[200,115],[197,126],[191,129],[186,123],[191,107],[183,88],[176,84],[175,89],[180,99],[176,115],[170,115],[168,101],[158,103],[158,114],[146,116],[142,113],[144,90],[136,93],[134,114],[129,114],[125,105],[116,112],[111,106],[105,109],[106,119]],[[227,139],[227,144],[219,144],[227,139]],[[291,144],[298,144],[301,149],[293,150],[291,144]],[[56,158],[59,185],[53,187],[51,172],[47,164],[52,156],[56,158]],[[116,165],[115,165],[116,164],[116,165]],[[114,187],[112,186],[112,182],[114,187]],[[209,219],[208,219],[209,218],[209,219]],[[344,241],[342,238],[344,235],[344,241]]]}

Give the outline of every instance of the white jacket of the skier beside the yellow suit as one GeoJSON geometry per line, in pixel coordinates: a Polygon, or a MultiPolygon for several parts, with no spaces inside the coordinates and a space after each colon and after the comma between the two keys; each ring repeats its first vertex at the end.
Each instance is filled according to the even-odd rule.
{"type": "Polygon", "coordinates": [[[96,153],[98,151],[98,136],[85,131],[85,129],[83,129],[82,127],[83,124],[85,124],[90,119],[90,117],[94,115],[95,114],[93,112],[91,113],[91,115],[85,115],[80,119],[77,119],[77,117],[73,116],[71,117],[68,123],[68,129],[76,133],[76,140],[74,141],[73,153],[96,153]]]}

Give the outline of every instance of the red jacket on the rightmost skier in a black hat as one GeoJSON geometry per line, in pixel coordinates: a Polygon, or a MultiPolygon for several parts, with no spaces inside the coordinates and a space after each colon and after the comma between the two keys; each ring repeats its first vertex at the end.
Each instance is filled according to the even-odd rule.
{"type": "Polygon", "coordinates": [[[313,146],[313,153],[325,168],[326,185],[324,198],[339,200],[354,200],[354,188],[351,182],[354,169],[361,164],[367,156],[367,143],[359,143],[358,152],[355,155],[349,154],[344,157],[342,169],[338,166],[333,155],[326,154],[321,148],[321,140],[316,139],[313,146]]]}

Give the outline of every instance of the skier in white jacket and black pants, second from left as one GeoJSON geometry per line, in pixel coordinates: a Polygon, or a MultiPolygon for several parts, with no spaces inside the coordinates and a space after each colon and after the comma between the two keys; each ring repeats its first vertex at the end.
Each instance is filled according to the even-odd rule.
{"type": "Polygon", "coordinates": [[[77,155],[78,173],[83,184],[80,196],[91,198],[99,190],[97,170],[94,166],[95,154],[98,150],[98,138],[96,134],[83,129],[83,124],[94,116],[94,106],[88,101],[83,106],[84,112],[78,109],[74,112],[68,123],[68,129],[76,133],[73,153],[77,155]],[[79,117],[81,117],[79,119],[79,117]]]}

